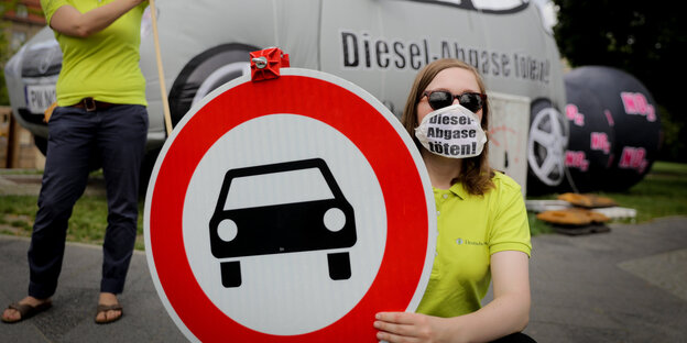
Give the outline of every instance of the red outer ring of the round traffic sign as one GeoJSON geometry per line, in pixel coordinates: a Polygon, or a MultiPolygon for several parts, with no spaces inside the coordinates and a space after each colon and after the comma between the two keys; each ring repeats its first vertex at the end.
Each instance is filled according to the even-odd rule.
{"type": "Polygon", "coordinates": [[[203,342],[377,342],[374,314],[406,310],[425,267],[426,193],[406,143],[389,119],[360,96],[330,81],[297,75],[239,84],[209,100],[167,144],[149,193],[149,254],[171,307],[195,338],[203,342]],[[346,135],[374,170],[386,210],[386,245],[367,294],[338,321],[297,335],[259,332],[219,310],[196,281],[182,228],[186,190],[212,144],[248,120],[275,113],[309,117],[346,135]]]}

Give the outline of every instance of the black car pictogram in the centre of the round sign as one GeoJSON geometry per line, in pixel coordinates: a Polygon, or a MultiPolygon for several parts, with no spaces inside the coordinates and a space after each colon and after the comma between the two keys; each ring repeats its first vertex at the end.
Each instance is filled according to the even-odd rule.
{"type": "MultiPolygon", "coordinates": [[[[293,189],[294,185],[286,186],[293,189]]],[[[210,247],[217,258],[346,248],[357,241],[353,208],[321,158],[230,169],[209,226],[210,247]],[[301,188],[295,189],[309,198],[314,197],[313,188],[327,189],[316,192],[316,199],[305,197],[305,200],[280,203],[273,203],[274,199],[251,198],[255,186],[304,180],[307,185],[296,185],[301,188]]],[[[350,278],[348,252],[329,253],[327,259],[331,279],[350,278]]],[[[239,261],[220,262],[220,269],[225,287],[241,285],[239,261]]]]}

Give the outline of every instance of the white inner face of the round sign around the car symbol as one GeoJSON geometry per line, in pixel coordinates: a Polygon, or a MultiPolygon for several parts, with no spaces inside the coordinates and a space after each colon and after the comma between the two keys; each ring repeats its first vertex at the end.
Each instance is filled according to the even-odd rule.
{"type": "MultiPolygon", "coordinates": [[[[242,207],[257,208],[305,203],[331,197],[331,190],[317,168],[301,172],[302,175],[286,172],[235,179],[229,188],[231,197],[227,200],[239,202],[239,199],[242,207]]],[[[237,203],[229,206],[238,207],[237,203]]],[[[198,284],[228,317],[260,332],[303,334],[336,322],[364,296],[382,262],[385,219],[384,199],[377,176],[352,142],[315,119],[271,114],[236,126],[205,154],[186,193],[184,243],[198,284]],[[250,142],[252,151],[265,153],[246,154],[236,148],[246,145],[246,142],[250,142]],[[308,158],[321,158],[327,163],[344,196],[353,207],[356,244],[350,248],[230,258],[240,262],[242,283],[239,287],[223,287],[221,259],[215,257],[209,248],[208,225],[220,198],[225,174],[235,168],[308,158]],[[341,251],[349,253],[351,277],[332,280],[328,273],[327,254],[341,251]]],[[[324,218],[314,220],[324,221],[324,218]]]]}

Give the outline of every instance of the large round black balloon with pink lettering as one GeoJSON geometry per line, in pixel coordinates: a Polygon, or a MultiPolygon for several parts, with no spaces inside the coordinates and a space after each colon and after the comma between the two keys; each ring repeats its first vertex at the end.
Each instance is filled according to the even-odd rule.
{"type": "Polygon", "coordinates": [[[617,191],[639,182],[661,145],[661,120],[646,87],[601,66],[571,70],[565,85],[568,184],[578,191],[617,191]]]}

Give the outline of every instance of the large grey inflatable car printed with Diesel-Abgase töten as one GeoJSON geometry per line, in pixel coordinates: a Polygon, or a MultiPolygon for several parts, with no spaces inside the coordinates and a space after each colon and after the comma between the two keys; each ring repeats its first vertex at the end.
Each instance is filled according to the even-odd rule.
{"type": "MultiPolygon", "coordinates": [[[[279,46],[292,67],[347,79],[399,117],[417,71],[454,57],[477,67],[491,92],[492,164],[523,188],[527,163],[535,184],[563,179],[567,121],[560,115],[566,101],[559,54],[530,1],[166,0],[156,5],[174,123],[209,91],[247,74],[251,51],[279,46]],[[527,144],[531,122],[537,123],[536,135],[527,144]]],[[[141,68],[148,81],[149,150],[155,152],[166,134],[150,31],[148,15],[141,68]]],[[[54,98],[61,60],[46,27],[6,68],[14,115],[43,151],[42,112],[54,98]]]]}

